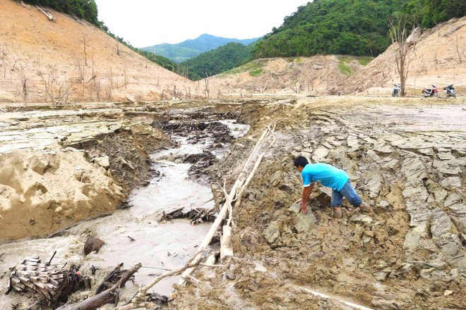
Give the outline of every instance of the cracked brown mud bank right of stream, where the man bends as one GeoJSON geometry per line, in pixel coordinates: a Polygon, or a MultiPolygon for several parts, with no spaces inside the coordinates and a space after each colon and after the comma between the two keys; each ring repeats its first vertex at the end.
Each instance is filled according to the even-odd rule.
{"type": "Polygon", "coordinates": [[[277,130],[234,209],[234,259],[227,272],[197,273],[201,285],[179,288],[169,308],[348,309],[309,293],[316,290],[373,309],[464,309],[466,115],[446,104],[352,97],[245,104],[241,117],[253,128],[209,169],[214,180],[234,180],[261,130],[275,121],[277,130]],[[312,213],[290,211],[301,196],[298,154],[345,169],[377,214],[350,212],[345,201],[346,218],[331,220],[322,187],[312,213]]]}

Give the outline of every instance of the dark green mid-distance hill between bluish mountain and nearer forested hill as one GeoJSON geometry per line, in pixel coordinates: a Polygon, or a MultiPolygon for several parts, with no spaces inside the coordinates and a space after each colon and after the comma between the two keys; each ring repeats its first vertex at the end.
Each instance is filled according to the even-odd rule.
{"type": "Polygon", "coordinates": [[[251,55],[253,44],[230,42],[180,63],[194,74],[193,80],[212,76],[241,66],[251,55]]]}

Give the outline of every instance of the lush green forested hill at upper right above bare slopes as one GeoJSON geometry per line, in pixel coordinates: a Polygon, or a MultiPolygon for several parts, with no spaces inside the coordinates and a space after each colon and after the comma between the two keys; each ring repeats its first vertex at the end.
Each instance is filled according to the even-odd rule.
{"type": "Polygon", "coordinates": [[[260,40],[254,58],[343,54],[377,56],[391,44],[388,19],[432,27],[465,15],[465,0],[314,0],[260,40]]]}

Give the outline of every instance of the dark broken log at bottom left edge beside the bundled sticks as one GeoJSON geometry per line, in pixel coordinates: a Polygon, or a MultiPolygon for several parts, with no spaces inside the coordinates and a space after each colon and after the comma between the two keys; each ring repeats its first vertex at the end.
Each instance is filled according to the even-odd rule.
{"type": "Polygon", "coordinates": [[[104,290],[100,294],[97,294],[93,297],[83,300],[83,302],[79,302],[78,304],[67,304],[64,306],[59,307],[56,310],[94,310],[103,306],[104,304],[111,304],[118,300],[118,294],[115,294],[115,291],[118,290],[120,287],[124,287],[126,281],[131,278],[131,276],[136,273],[136,271],[141,268],[141,263],[133,266],[129,271],[121,276],[120,280],[115,283],[112,287],[108,290],[104,290]]]}

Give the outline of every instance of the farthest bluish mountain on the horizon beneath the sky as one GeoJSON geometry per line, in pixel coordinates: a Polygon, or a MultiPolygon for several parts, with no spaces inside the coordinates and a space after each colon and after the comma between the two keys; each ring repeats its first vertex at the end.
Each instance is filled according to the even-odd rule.
{"type": "Polygon", "coordinates": [[[219,46],[230,42],[241,43],[244,45],[251,44],[259,38],[253,39],[228,39],[225,37],[215,37],[215,35],[201,35],[196,39],[188,39],[177,44],[157,44],[154,46],[143,47],[145,51],[151,51],[157,55],[161,55],[172,59],[177,63],[187,61],[189,58],[198,56],[205,51],[211,51],[219,46]]]}

